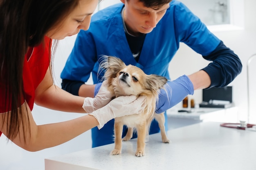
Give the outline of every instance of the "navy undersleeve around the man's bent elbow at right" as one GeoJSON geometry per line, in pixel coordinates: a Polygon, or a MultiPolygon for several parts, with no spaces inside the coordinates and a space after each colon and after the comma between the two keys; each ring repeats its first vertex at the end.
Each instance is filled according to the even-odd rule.
{"type": "Polygon", "coordinates": [[[227,48],[222,41],[211,54],[203,57],[208,61],[213,61],[202,69],[211,78],[210,87],[227,86],[242,71],[242,63],[238,56],[227,48]]]}

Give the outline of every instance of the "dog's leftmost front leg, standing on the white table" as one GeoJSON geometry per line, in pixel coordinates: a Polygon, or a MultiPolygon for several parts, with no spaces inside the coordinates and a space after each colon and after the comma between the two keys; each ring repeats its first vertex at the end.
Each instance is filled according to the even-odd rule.
{"type": "Polygon", "coordinates": [[[111,155],[121,154],[123,126],[124,124],[115,120],[115,149],[111,151],[111,155]]]}

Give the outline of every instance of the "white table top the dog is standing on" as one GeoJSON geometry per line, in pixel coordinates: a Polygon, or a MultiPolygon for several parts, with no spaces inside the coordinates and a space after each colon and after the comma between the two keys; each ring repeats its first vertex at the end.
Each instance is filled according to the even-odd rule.
{"type": "Polygon", "coordinates": [[[45,170],[255,170],[256,132],[201,122],[150,135],[144,157],[136,157],[137,139],[123,142],[121,155],[110,155],[114,144],[45,159],[45,170]]]}

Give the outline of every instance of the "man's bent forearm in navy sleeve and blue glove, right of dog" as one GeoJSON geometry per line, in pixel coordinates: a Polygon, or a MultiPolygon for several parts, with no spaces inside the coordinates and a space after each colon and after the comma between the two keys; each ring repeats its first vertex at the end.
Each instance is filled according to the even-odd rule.
{"type": "Polygon", "coordinates": [[[184,75],[169,81],[165,85],[166,90],[161,89],[156,107],[157,113],[170,109],[187,95],[193,95],[196,89],[227,86],[242,70],[238,56],[222,41],[211,54],[203,57],[213,62],[189,76],[184,75]]]}

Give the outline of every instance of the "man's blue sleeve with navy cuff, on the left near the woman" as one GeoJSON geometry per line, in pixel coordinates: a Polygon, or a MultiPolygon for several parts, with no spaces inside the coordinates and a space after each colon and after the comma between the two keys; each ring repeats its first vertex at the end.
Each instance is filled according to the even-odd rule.
{"type": "Polygon", "coordinates": [[[97,54],[93,42],[91,34],[81,30],[61,72],[61,78],[63,79],[61,83],[62,89],[71,94],[78,95],[80,86],[88,81],[97,62],[97,54]]]}

